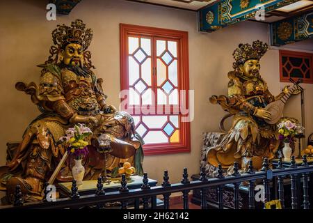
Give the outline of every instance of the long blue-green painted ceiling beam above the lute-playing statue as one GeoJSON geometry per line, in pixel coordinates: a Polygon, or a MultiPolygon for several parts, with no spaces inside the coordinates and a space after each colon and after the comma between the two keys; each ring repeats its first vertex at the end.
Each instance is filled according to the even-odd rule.
{"type": "Polygon", "coordinates": [[[255,17],[259,6],[265,13],[299,0],[221,0],[198,11],[200,31],[216,31],[255,17]]]}

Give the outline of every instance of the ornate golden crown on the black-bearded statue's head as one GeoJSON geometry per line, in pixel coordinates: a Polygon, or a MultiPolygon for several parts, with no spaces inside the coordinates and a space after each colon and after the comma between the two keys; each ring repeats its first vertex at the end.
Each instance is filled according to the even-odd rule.
{"type": "Polygon", "coordinates": [[[93,30],[86,29],[86,24],[82,20],[75,20],[71,26],[58,25],[58,28],[52,31],[54,44],[61,49],[68,43],[79,43],[83,50],[86,50],[93,39],[93,30]]]}

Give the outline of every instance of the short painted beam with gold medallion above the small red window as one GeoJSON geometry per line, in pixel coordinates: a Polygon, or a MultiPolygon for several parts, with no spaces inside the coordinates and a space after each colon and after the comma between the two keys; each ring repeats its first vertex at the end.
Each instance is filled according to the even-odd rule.
{"type": "Polygon", "coordinates": [[[271,45],[280,46],[313,38],[313,12],[271,24],[271,45]]]}

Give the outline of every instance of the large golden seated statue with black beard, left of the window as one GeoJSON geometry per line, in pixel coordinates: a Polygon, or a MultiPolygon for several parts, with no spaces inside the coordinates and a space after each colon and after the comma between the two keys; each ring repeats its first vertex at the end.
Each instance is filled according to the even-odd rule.
{"type": "MultiPolygon", "coordinates": [[[[101,176],[104,163],[110,171],[128,161],[136,167],[137,174],[143,174],[143,141],[134,130],[133,118],[106,104],[102,79],[97,79],[91,70],[95,67],[87,48],[92,37],[93,31],[86,29],[81,20],[75,20],[71,26],[58,25],[52,32],[51,55],[40,66],[39,86],[33,82],[16,84],[17,90],[31,95],[42,114],[26,128],[13,159],[1,167],[1,186],[6,187],[11,201],[16,185],[21,186],[30,201],[40,199],[43,184],[66,150],[59,139],[75,123],[85,123],[93,131],[91,141],[110,139],[111,152],[106,160],[95,146],[89,146],[89,154],[83,160],[84,180],[101,176]]],[[[72,181],[72,165],[73,160],[68,157],[56,176],[58,182],[72,181]]]]}

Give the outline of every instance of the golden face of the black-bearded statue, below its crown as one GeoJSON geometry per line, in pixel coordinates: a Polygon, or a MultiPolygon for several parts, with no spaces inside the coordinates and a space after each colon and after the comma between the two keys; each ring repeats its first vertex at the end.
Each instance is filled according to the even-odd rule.
{"type": "Polygon", "coordinates": [[[65,49],[61,50],[63,56],[63,63],[70,66],[83,65],[83,47],[78,43],[70,43],[65,49]]]}

